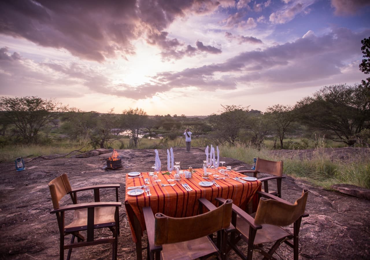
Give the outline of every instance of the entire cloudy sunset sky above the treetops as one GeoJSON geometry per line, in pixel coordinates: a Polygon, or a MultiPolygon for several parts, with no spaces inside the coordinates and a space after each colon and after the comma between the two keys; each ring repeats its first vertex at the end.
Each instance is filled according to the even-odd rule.
{"type": "Polygon", "coordinates": [[[0,96],[120,114],[265,111],[353,85],[368,0],[0,1],[0,96]]]}

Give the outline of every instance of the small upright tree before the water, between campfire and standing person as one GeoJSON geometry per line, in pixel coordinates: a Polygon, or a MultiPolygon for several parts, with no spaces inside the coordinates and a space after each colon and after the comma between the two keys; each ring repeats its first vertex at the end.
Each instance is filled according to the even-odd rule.
{"type": "Polygon", "coordinates": [[[139,140],[139,131],[142,127],[145,126],[148,115],[141,108],[129,108],[122,111],[122,114],[124,119],[124,126],[130,131],[130,146],[133,145],[137,147],[137,143],[139,140]]]}

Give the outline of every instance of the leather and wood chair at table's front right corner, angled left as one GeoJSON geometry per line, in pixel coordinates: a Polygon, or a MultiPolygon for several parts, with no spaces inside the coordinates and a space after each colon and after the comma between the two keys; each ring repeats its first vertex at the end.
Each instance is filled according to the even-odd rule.
{"type": "MultiPolygon", "coordinates": [[[[264,197],[261,197],[257,212],[252,215],[248,215],[238,206],[232,205],[231,223],[235,226],[235,232],[231,233],[231,238],[228,240],[229,246],[242,259],[252,260],[253,250],[259,251],[265,257],[264,259],[275,259],[273,253],[284,242],[293,248],[294,259],[297,260],[300,224],[302,217],[308,216],[305,213],[308,190],[304,189],[302,196],[294,204],[266,192],[258,193],[264,197]],[[292,223],[293,234],[282,228],[292,223]],[[248,243],[247,256],[237,247],[240,239],[248,243]],[[290,239],[293,239],[293,243],[288,241],[290,239]],[[269,251],[265,251],[263,244],[270,242],[275,242],[275,244],[269,251]]],[[[225,202],[225,199],[222,198],[216,198],[216,200],[220,203],[225,202]]]]}

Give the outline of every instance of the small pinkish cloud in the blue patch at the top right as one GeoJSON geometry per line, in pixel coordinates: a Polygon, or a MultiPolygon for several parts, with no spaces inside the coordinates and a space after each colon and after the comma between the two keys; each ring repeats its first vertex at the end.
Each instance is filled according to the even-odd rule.
{"type": "Polygon", "coordinates": [[[284,24],[293,20],[296,15],[309,13],[308,7],[314,3],[314,0],[307,1],[285,1],[286,5],[280,10],[270,14],[269,20],[273,24],[284,24]]]}

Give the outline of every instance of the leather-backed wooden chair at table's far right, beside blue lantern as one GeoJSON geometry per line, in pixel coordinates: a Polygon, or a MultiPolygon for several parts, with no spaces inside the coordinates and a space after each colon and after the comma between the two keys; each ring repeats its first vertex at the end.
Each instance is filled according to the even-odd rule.
{"type": "Polygon", "coordinates": [[[273,175],[271,177],[258,179],[263,183],[262,191],[276,195],[281,198],[281,181],[283,178],[283,161],[269,161],[261,158],[257,158],[255,170],[240,170],[239,173],[253,173],[253,176],[257,178],[258,173],[268,173],[273,175]],[[276,191],[269,191],[269,180],[276,180],[276,191]]]}

